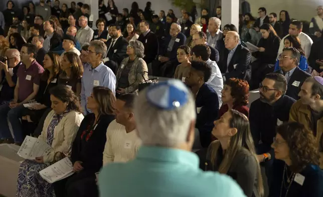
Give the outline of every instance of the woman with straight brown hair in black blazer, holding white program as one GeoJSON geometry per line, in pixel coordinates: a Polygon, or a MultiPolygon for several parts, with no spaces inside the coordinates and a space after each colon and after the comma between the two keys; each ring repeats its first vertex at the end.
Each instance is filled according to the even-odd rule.
{"type": "Polygon", "coordinates": [[[114,120],[115,100],[112,91],[103,86],[95,86],[88,97],[87,107],[93,113],[84,117],[73,142],[71,160],[76,173],[66,182],[66,196],[99,196],[95,173],[103,165],[106,129],[114,120]]]}

